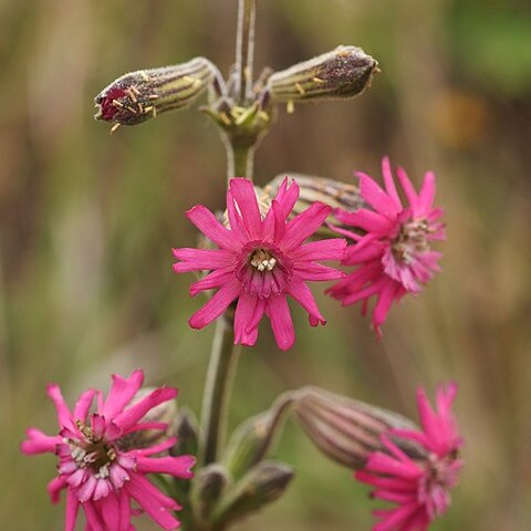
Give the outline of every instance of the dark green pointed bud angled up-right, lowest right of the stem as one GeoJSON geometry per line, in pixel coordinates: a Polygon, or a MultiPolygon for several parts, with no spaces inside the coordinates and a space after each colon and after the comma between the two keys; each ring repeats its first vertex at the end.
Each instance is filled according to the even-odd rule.
{"type": "Polygon", "coordinates": [[[216,529],[225,529],[229,522],[279,499],[293,477],[293,469],[282,462],[259,462],[235,486],[216,511],[216,529]]]}

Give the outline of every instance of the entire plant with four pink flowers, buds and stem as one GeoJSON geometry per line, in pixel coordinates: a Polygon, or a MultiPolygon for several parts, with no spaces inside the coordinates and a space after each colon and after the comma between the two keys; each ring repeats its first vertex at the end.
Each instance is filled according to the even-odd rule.
{"type": "Polygon", "coordinates": [[[21,450],[55,454],[48,490],[54,503],[64,493],[66,531],[82,520],[87,531],[131,531],[143,513],[155,528],[220,531],[288,488],[293,470],[269,456],[291,414],[319,450],[352,469],[383,502],[374,531],[427,530],[448,509],[462,468],[455,383],[437,388],[434,406],[418,387],[419,426],[317,387],[285,392],[226,444],[238,353],[259,341],[263,317],[278,347],[289,350],[295,330],[288,300],[302,306],[310,325],[325,324],[310,288],[324,281],[343,305],[361,303],[365,314],[371,304],[379,339],[393,303],[418,294],[439,271],[440,252],[431,246],[445,239],[435,175],[415,186],[387,157],[382,180],[358,173],[356,185],[303,175],[261,188],[253,183],[254,152],[280,104],[291,113],[305,102],[350,100],[369,87],[378,67],[362,49],[342,45],[282,71],[267,69],[254,81],[256,0],[239,0],[238,10],[228,80],[196,58],[125,74],[95,98],[96,118],[115,131],[186,107],[206,92],[200,111],[227,148],[226,210],[192,207],[187,217],[201,244],[173,250],[176,273],[199,274],[190,295],[207,295],[190,326],[216,323],[201,421],[176,408],[175,388],[142,389],[138,369],[113,375],[106,396],[83,392],[73,408],[50,384],[59,428],[53,435],[28,429],[21,450]]]}

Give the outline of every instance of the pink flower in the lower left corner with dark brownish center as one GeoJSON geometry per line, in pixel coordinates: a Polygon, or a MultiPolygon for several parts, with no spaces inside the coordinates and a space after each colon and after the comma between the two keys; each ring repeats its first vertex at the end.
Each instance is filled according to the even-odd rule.
{"type": "Polygon", "coordinates": [[[66,489],[65,531],[73,531],[80,507],[86,518],[86,531],[131,531],[132,500],[163,529],[179,527],[173,511],[180,507],[158,490],[147,473],[168,473],[191,478],[194,457],[153,457],[170,448],[175,437],[147,448],[132,448],[129,434],[142,430],[164,430],[168,425],[143,421],[159,404],[177,396],[177,389],[163,387],[137,402],[144,373],[135,371],[128,378],[113,375],[113,385],[104,400],[101,392],[88,389],[77,399],[72,412],[58,385],[48,386],[48,395],[58,412],[59,435],[49,436],[37,428],[27,431],[21,450],[27,455],[54,452],[59,457],[59,476],[48,485],[53,503],[66,489]],[[90,414],[96,396],[96,413],[90,414]]]}

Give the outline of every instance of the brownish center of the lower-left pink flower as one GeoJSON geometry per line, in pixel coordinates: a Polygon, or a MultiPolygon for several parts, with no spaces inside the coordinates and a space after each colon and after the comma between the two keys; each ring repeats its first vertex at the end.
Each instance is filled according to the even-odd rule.
{"type": "Polygon", "coordinates": [[[79,468],[92,469],[96,478],[107,478],[108,467],[117,457],[116,450],[103,437],[96,437],[92,428],[81,420],[75,424],[84,440],[69,439],[72,459],[79,468]]]}

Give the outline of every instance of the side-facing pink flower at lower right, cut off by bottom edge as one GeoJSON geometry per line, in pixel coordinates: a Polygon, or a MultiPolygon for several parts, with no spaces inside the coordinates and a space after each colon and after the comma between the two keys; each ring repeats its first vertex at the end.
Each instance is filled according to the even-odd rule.
{"type": "Polygon", "coordinates": [[[373,497],[396,504],[374,511],[379,521],[373,531],[425,531],[448,509],[449,491],[457,485],[462,468],[462,460],[458,458],[462,439],[451,413],[456,393],[455,383],[439,386],[437,412],[434,412],[420,387],[417,407],[423,429],[394,429],[382,435],[386,452],[374,451],[365,469],[355,472],[356,479],[375,488],[373,497]],[[414,441],[425,457],[410,458],[389,436],[414,441]]]}

